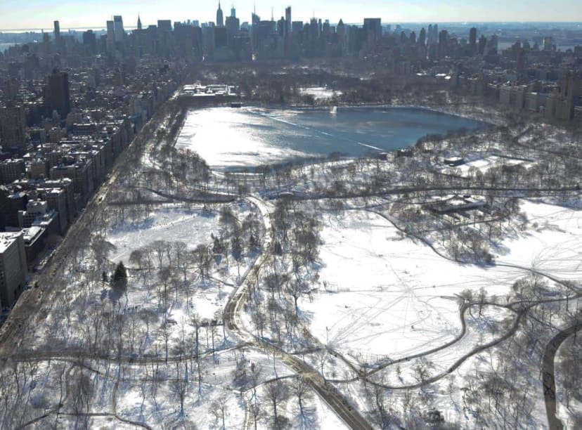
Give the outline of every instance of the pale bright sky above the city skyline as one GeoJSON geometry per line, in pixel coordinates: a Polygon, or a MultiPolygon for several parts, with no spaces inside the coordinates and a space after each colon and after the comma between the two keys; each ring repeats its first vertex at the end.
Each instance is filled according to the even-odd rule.
{"type": "MultiPolygon", "coordinates": [[[[172,21],[216,19],[217,1],[208,0],[0,0],[0,30],[51,30],[53,20],[61,31],[79,27],[105,27],[111,15],[122,15],[125,27],[134,27],[138,14],[144,26],[158,19],[172,21]]],[[[486,22],[568,21],[582,22],[580,0],[238,0],[234,2],[240,22],[250,21],[253,5],[262,19],[285,15],[292,6],[292,19],[306,21],[315,15],[335,23],[362,22],[486,22]],[[550,6],[551,5],[551,6],[550,6]]],[[[224,16],[232,3],[221,4],[224,16]]]]}

